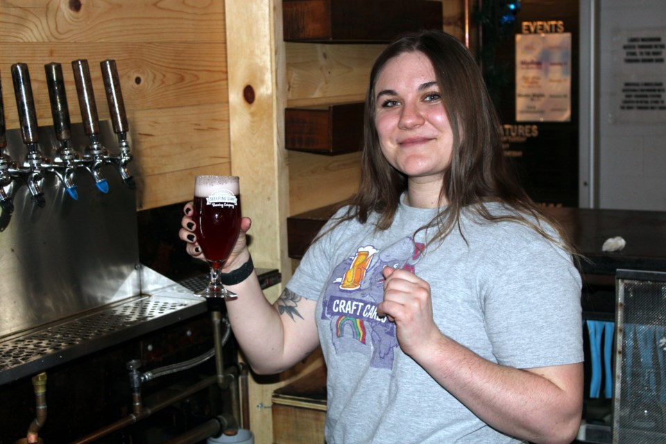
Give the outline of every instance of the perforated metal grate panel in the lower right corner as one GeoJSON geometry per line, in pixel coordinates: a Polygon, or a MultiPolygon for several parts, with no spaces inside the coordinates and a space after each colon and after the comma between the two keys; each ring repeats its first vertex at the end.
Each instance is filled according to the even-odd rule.
{"type": "Polygon", "coordinates": [[[665,443],[666,273],[617,276],[613,443],[665,443]]]}

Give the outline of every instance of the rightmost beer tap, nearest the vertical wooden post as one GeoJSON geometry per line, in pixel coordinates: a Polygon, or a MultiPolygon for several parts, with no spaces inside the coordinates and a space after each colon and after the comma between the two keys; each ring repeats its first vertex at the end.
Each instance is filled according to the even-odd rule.
{"type": "Polygon", "coordinates": [[[132,160],[132,153],[130,151],[130,144],[127,141],[127,116],[125,114],[125,103],[123,101],[123,93],[120,89],[116,61],[104,60],[100,63],[100,66],[102,69],[102,77],[104,79],[106,101],[109,104],[109,113],[113,124],[113,132],[116,133],[118,137],[118,146],[120,148],[120,154],[117,156],[109,156],[108,160],[117,165],[125,185],[130,189],[135,189],[136,184],[134,178],[127,170],[127,164],[132,160]]]}

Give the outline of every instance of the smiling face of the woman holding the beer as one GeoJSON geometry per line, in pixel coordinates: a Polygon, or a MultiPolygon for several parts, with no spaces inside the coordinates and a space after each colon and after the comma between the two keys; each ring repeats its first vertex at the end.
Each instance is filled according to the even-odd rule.
{"type": "Polygon", "coordinates": [[[401,53],[386,62],[375,83],[375,127],[391,166],[410,182],[441,185],[451,163],[453,134],[425,54],[401,53]]]}

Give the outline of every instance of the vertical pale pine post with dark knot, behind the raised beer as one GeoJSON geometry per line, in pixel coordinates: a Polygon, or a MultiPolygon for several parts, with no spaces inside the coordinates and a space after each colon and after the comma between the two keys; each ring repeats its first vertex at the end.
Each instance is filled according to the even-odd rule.
{"type": "MultiPolygon", "coordinates": [[[[278,268],[282,282],[289,278],[287,229],[289,209],[284,135],[284,48],[281,39],[280,0],[227,0],[229,67],[230,153],[232,173],[240,177],[243,213],[250,216],[255,266],[278,268]],[[285,273],[286,272],[286,273],[285,273]]],[[[273,302],[282,286],[264,296],[273,302]]],[[[255,444],[273,442],[271,404],[273,389],[283,375],[250,382],[250,427],[255,444]]]]}

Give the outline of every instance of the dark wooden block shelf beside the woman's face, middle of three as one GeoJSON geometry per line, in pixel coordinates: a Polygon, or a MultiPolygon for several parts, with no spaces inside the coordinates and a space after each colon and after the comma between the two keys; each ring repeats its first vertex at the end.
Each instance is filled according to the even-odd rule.
{"type": "Polygon", "coordinates": [[[306,153],[338,155],[359,151],[363,103],[284,110],[285,147],[306,153]]]}

